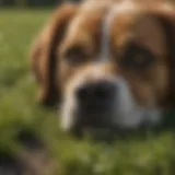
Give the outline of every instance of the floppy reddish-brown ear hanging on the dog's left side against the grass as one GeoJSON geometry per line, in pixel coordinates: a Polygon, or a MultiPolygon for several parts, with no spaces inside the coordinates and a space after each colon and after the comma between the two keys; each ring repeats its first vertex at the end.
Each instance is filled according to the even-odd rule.
{"type": "Polygon", "coordinates": [[[32,69],[39,84],[38,102],[45,106],[54,106],[61,98],[57,49],[77,10],[78,4],[74,3],[59,7],[32,47],[32,69]]]}

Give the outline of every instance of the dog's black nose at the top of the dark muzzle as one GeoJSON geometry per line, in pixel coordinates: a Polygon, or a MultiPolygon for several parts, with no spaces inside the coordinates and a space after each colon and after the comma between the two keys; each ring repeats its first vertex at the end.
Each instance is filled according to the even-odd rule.
{"type": "Polygon", "coordinates": [[[100,81],[84,84],[77,91],[78,101],[85,104],[102,104],[109,102],[115,94],[116,85],[113,82],[100,81]]]}

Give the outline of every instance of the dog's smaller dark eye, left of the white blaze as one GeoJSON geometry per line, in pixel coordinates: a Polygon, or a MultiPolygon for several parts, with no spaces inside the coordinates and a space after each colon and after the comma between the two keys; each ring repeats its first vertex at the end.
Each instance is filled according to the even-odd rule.
{"type": "Polygon", "coordinates": [[[74,46],[69,48],[65,52],[63,57],[67,63],[78,65],[78,63],[82,63],[84,59],[86,59],[86,54],[81,47],[74,46]]]}

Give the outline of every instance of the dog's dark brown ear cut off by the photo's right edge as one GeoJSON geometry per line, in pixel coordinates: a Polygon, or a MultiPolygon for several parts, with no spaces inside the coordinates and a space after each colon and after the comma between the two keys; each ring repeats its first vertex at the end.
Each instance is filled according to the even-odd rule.
{"type": "Polygon", "coordinates": [[[170,71],[168,92],[164,105],[175,108],[175,4],[160,0],[150,8],[150,16],[162,27],[170,71]]]}

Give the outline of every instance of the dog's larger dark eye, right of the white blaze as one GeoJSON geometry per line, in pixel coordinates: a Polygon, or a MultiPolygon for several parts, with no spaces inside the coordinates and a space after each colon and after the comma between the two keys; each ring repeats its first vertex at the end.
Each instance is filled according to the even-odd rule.
{"type": "Polygon", "coordinates": [[[121,66],[147,69],[154,62],[154,55],[144,47],[130,45],[122,55],[121,66]]]}

